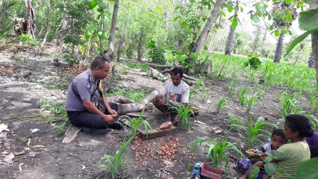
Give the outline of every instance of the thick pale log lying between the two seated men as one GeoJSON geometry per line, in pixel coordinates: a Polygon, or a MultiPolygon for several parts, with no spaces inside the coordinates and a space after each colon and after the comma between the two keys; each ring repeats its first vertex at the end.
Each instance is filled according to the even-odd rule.
{"type": "Polygon", "coordinates": [[[152,107],[151,104],[148,104],[150,101],[155,99],[156,95],[159,94],[158,90],[155,90],[151,92],[148,96],[144,97],[139,103],[133,103],[133,104],[118,104],[118,115],[123,115],[126,113],[132,113],[132,112],[141,112],[143,108],[145,107],[152,107]]]}

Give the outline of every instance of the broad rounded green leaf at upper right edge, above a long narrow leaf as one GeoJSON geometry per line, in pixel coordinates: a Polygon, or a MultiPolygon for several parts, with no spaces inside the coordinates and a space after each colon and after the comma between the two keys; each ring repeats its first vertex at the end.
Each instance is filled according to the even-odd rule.
{"type": "Polygon", "coordinates": [[[299,13],[299,28],[309,31],[318,28],[318,6],[299,13]]]}

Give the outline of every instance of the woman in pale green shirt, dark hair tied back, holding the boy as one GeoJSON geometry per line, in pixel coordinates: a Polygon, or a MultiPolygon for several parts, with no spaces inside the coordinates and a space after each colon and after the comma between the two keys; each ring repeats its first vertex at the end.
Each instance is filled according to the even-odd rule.
{"type": "MultiPolygon", "coordinates": [[[[283,156],[279,157],[279,159],[273,159],[272,162],[275,162],[277,167],[274,174],[270,176],[271,179],[294,177],[299,163],[310,159],[310,150],[305,137],[312,137],[314,132],[307,117],[299,114],[290,114],[286,116],[283,133],[285,138],[289,139],[291,143],[282,144],[277,148],[277,151],[283,153],[283,156]]],[[[255,152],[258,153],[256,150],[255,152]]],[[[253,154],[254,149],[247,150],[245,153],[246,155],[253,154]]],[[[264,153],[259,159],[265,160],[266,157],[267,155],[264,153]]],[[[241,165],[239,162],[240,160],[238,160],[238,166],[240,168],[241,165]]],[[[255,162],[254,165],[257,165],[256,163],[257,162],[255,162]]],[[[248,178],[248,174],[241,178],[248,178]]],[[[262,178],[268,177],[267,175],[263,175],[262,178]]]]}

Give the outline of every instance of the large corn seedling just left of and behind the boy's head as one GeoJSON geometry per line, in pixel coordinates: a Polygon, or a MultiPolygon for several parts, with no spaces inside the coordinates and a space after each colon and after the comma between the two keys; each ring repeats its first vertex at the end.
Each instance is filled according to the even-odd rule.
{"type": "Polygon", "coordinates": [[[260,143],[263,143],[262,140],[259,139],[259,137],[267,137],[267,138],[271,138],[270,135],[271,133],[267,130],[262,129],[263,126],[265,125],[270,125],[270,126],[274,126],[273,123],[270,122],[264,122],[265,119],[263,117],[258,117],[254,126],[252,124],[252,116],[250,114],[250,123],[248,124],[248,127],[244,126],[244,122],[243,125],[239,125],[239,124],[231,124],[230,125],[230,130],[236,130],[239,134],[239,136],[241,136],[244,141],[245,141],[245,145],[246,148],[253,148],[253,144],[254,141],[259,141],[260,143]],[[242,130],[243,129],[243,130],[242,130]],[[266,134],[260,134],[259,132],[264,132],[266,134]]]}

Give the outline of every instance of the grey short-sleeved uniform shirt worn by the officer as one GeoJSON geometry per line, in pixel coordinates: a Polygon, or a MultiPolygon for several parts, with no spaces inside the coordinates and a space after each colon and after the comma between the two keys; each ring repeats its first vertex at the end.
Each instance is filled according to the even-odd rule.
{"type": "MultiPolygon", "coordinates": [[[[93,82],[89,82],[89,76],[93,77],[93,72],[91,69],[77,75],[73,80],[73,86],[75,91],[79,94],[82,100],[90,100],[91,95],[94,93],[97,87],[97,79],[93,79],[93,82]]],[[[94,78],[94,77],[93,77],[94,78]]],[[[68,87],[66,102],[66,111],[84,111],[87,110],[82,101],[79,100],[72,90],[72,84],[68,87]]]]}

